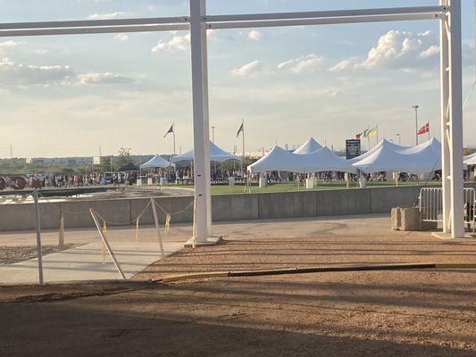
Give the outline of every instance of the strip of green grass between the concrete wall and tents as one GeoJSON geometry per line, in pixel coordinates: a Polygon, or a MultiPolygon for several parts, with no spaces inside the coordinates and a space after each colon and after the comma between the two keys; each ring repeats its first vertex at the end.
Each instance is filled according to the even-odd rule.
{"type": "MultiPolygon", "coordinates": [[[[422,185],[423,183],[418,182],[399,182],[398,186],[412,186],[412,185],[422,185]]],[[[370,182],[367,184],[367,187],[394,187],[395,184],[392,182],[370,182]]],[[[183,186],[187,188],[193,188],[193,186],[183,186]]],[[[352,183],[351,188],[357,188],[357,184],[352,183]]],[[[320,190],[332,190],[346,188],[345,183],[335,183],[330,182],[326,184],[318,184],[313,188],[313,190],[307,191],[320,191],[320,190]]],[[[251,187],[252,194],[263,194],[263,193],[273,193],[273,192],[296,192],[296,191],[305,191],[303,185],[297,187],[296,183],[286,183],[286,184],[274,184],[268,187],[260,188],[257,186],[251,187]]],[[[226,186],[226,185],[212,185],[212,195],[231,195],[231,194],[243,194],[245,193],[244,186],[226,186]]]]}

